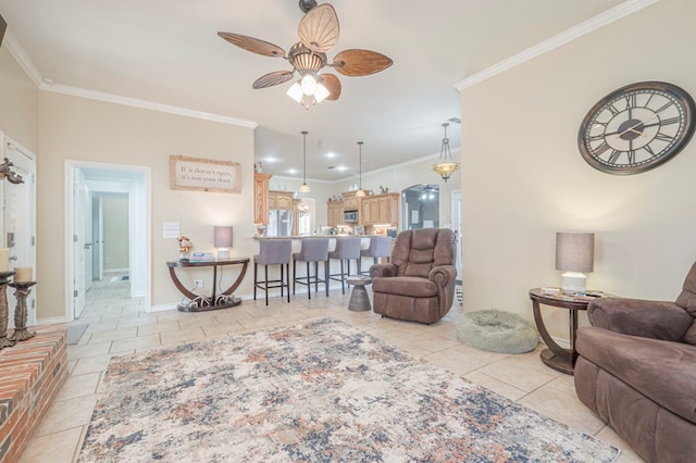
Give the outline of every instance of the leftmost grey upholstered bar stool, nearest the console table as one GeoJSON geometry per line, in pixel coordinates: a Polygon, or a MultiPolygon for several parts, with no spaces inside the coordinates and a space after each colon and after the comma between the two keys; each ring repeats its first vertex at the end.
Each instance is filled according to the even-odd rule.
{"type": "Polygon", "coordinates": [[[290,302],[290,254],[291,239],[262,239],[259,241],[259,253],[253,256],[253,300],[257,300],[257,288],[265,292],[265,304],[269,304],[269,288],[287,288],[287,301],[290,302]],[[259,280],[258,265],[263,265],[264,279],[259,280]],[[269,265],[281,265],[281,279],[269,279],[269,265]],[[285,266],[285,272],[283,267],[285,266]],[[272,285],[269,286],[269,283],[272,285]]]}

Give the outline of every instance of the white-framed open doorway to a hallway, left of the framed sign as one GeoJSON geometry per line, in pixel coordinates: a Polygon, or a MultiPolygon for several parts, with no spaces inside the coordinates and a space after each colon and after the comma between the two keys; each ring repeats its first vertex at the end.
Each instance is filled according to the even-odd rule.
{"type": "Polygon", "coordinates": [[[67,161],[66,170],[66,321],[85,315],[92,281],[110,271],[149,311],[150,168],[67,161]]]}

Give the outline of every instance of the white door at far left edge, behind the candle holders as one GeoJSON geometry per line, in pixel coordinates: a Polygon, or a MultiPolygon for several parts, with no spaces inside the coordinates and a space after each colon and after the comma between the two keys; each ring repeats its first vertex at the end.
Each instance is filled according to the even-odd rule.
{"type": "MultiPolygon", "coordinates": [[[[11,170],[21,175],[23,183],[2,182],[4,197],[4,246],[10,248],[10,268],[32,267],[36,281],[36,158],[15,142],[5,138],[4,157],[12,162],[11,170]]],[[[36,325],[36,289],[26,300],[27,325],[36,325]]],[[[8,288],[10,325],[14,326],[14,291],[8,288]]]]}

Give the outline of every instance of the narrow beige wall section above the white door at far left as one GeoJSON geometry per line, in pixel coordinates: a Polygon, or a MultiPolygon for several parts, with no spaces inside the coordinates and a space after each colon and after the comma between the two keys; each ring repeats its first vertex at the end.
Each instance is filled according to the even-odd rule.
{"type": "Polygon", "coordinates": [[[0,47],[0,130],[38,155],[39,90],[0,47]]]}

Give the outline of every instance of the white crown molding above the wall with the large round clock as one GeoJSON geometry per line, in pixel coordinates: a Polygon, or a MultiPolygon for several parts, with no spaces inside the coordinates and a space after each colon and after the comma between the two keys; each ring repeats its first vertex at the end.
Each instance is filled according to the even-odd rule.
{"type": "Polygon", "coordinates": [[[597,30],[608,24],[619,21],[630,14],[633,14],[644,8],[647,8],[660,0],[627,0],[621,4],[618,4],[604,13],[600,13],[587,21],[584,21],[569,29],[563,30],[560,34],[555,35],[535,46],[527,48],[510,58],[507,58],[498,63],[486,67],[485,70],[472,74],[455,84],[455,88],[462,91],[469,87],[473,87],[476,84],[511,70],[522,63],[533,60],[536,57],[540,57],[558,47],[561,47],[568,42],[571,42],[586,34],[597,30]]]}

